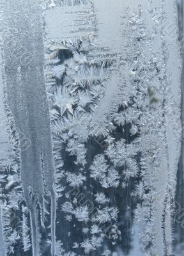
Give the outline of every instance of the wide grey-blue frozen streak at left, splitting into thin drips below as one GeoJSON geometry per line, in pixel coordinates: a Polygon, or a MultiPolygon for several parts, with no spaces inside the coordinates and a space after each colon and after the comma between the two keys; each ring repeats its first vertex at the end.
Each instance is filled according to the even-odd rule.
{"type": "MultiPolygon", "coordinates": [[[[31,211],[33,253],[38,255],[36,228],[36,196],[42,205],[43,172],[45,185],[51,193],[52,255],[56,204],[54,197],[54,164],[50,136],[49,108],[43,75],[44,52],[40,9],[37,1],[1,1],[3,6],[4,70],[8,104],[19,131],[21,178],[24,197],[31,211]],[[29,33],[27,33],[29,31],[29,33]],[[23,145],[21,134],[31,141],[23,145]],[[42,158],[41,158],[42,156],[42,158]],[[31,193],[31,194],[30,194],[31,193]],[[31,197],[32,199],[31,199],[31,197]],[[34,198],[34,200],[33,200],[34,198]],[[33,200],[33,201],[32,201],[33,200]]],[[[42,209],[43,210],[43,209],[42,209]]]]}

